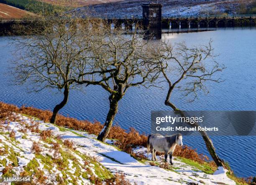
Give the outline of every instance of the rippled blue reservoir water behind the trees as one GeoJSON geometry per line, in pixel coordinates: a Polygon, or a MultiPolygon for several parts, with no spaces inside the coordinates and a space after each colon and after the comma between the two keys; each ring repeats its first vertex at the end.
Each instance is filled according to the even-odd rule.
{"type": "MultiPolygon", "coordinates": [[[[256,29],[220,29],[201,33],[165,35],[174,42],[185,41],[193,46],[214,41],[216,60],[227,67],[221,74],[225,79],[220,84],[210,84],[210,94],[199,94],[199,99],[188,103],[174,93],[173,102],[184,110],[256,110],[256,29]]],[[[12,86],[12,76],[8,71],[13,58],[7,37],[0,37],[0,101],[18,106],[34,106],[40,109],[53,109],[61,101],[56,91],[41,91],[28,94],[25,86],[12,86]]],[[[166,89],[129,89],[120,101],[115,124],[128,129],[135,127],[141,133],[150,132],[151,110],[169,110],[164,106],[166,89]]],[[[73,90],[61,114],[78,119],[94,119],[104,122],[108,112],[108,93],[97,86],[88,86],[84,91],[73,90]]],[[[236,175],[248,177],[256,175],[256,137],[212,137],[216,151],[230,163],[236,175]]],[[[185,137],[184,144],[207,154],[201,137],[185,137]]],[[[208,154],[207,154],[208,155],[208,154]]]]}

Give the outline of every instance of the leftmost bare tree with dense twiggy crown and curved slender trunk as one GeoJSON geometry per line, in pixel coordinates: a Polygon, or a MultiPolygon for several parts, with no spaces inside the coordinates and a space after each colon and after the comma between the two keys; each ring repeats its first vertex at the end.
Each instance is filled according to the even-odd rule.
{"type": "Polygon", "coordinates": [[[59,110],[67,104],[70,89],[77,88],[74,79],[79,79],[79,70],[83,68],[83,76],[92,70],[87,60],[91,35],[97,32],[92,24],[97,22],[89,17],[80,19],[72,12],[64,16],[41,15],[33,25],[17,25],[23,36],[13,38],[18,56],[15,81],[27,82],[30,91],[63,91],[63,100],[54,107],[51,123],[56,122],[59,110]]]}

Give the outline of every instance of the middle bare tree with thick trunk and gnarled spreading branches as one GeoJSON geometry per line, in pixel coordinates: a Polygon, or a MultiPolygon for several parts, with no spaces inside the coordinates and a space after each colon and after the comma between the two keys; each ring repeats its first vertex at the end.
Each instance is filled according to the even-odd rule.
{"type": "Polygon", "coordinates": [[[158,64],[144,54],[149,46],[143,40],[143,33],[125,35],[127,30],[111,30],[107,24],[102,25],[101,30],[101,34],[93,37],[90,56],[94,60],[94,70],[102,72],[100,75],[92,75],[91,79],[79,79],[76,82],[100,85],[110,94],[108,115],[97,137],[100,141],[105,141],[118,112],[118,102],[126,91],[134,86],[153,86],[160,72],[158,64]]]}

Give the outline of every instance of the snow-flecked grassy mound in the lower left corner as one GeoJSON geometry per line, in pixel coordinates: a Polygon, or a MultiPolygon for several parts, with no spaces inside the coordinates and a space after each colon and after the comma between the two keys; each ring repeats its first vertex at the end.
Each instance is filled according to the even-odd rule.
{"type": "Polygon", "coordinates": [[[25,131],[24,127],[22,132],[0,134],[2,180],[4,177],[12,177],[17,171],[22,176],[32,177],[32,182],[37,184],[56,182],[78,185],[113,178],[110,171],[95,158],[75,150],[69,140],[63,142],[51,136],[51,131],[38,130],[41,134],[36,133],[36,130],[32,133],[25,131]],[[19,134],[20,139],[17,139],[19,134]]]}

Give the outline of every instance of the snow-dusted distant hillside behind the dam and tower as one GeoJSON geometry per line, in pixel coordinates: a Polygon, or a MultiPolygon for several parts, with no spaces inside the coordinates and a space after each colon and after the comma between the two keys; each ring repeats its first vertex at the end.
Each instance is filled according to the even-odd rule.
{"type": "MultiPolygon", "coordinates": [[[[115,3],[105,3],[89,6],[95,11],[97,16],[103,18],[130,18],[131,16],[140,18],[142,16],[143,3],[163,4],[163,17],[187,17],[197,15],[215,15],[224,13],[236,13],[240,3],[249,3],[252,0],[123,0],[115,3]]],[[[79,8],[84,11],[87,8],[79,8]]]]}

